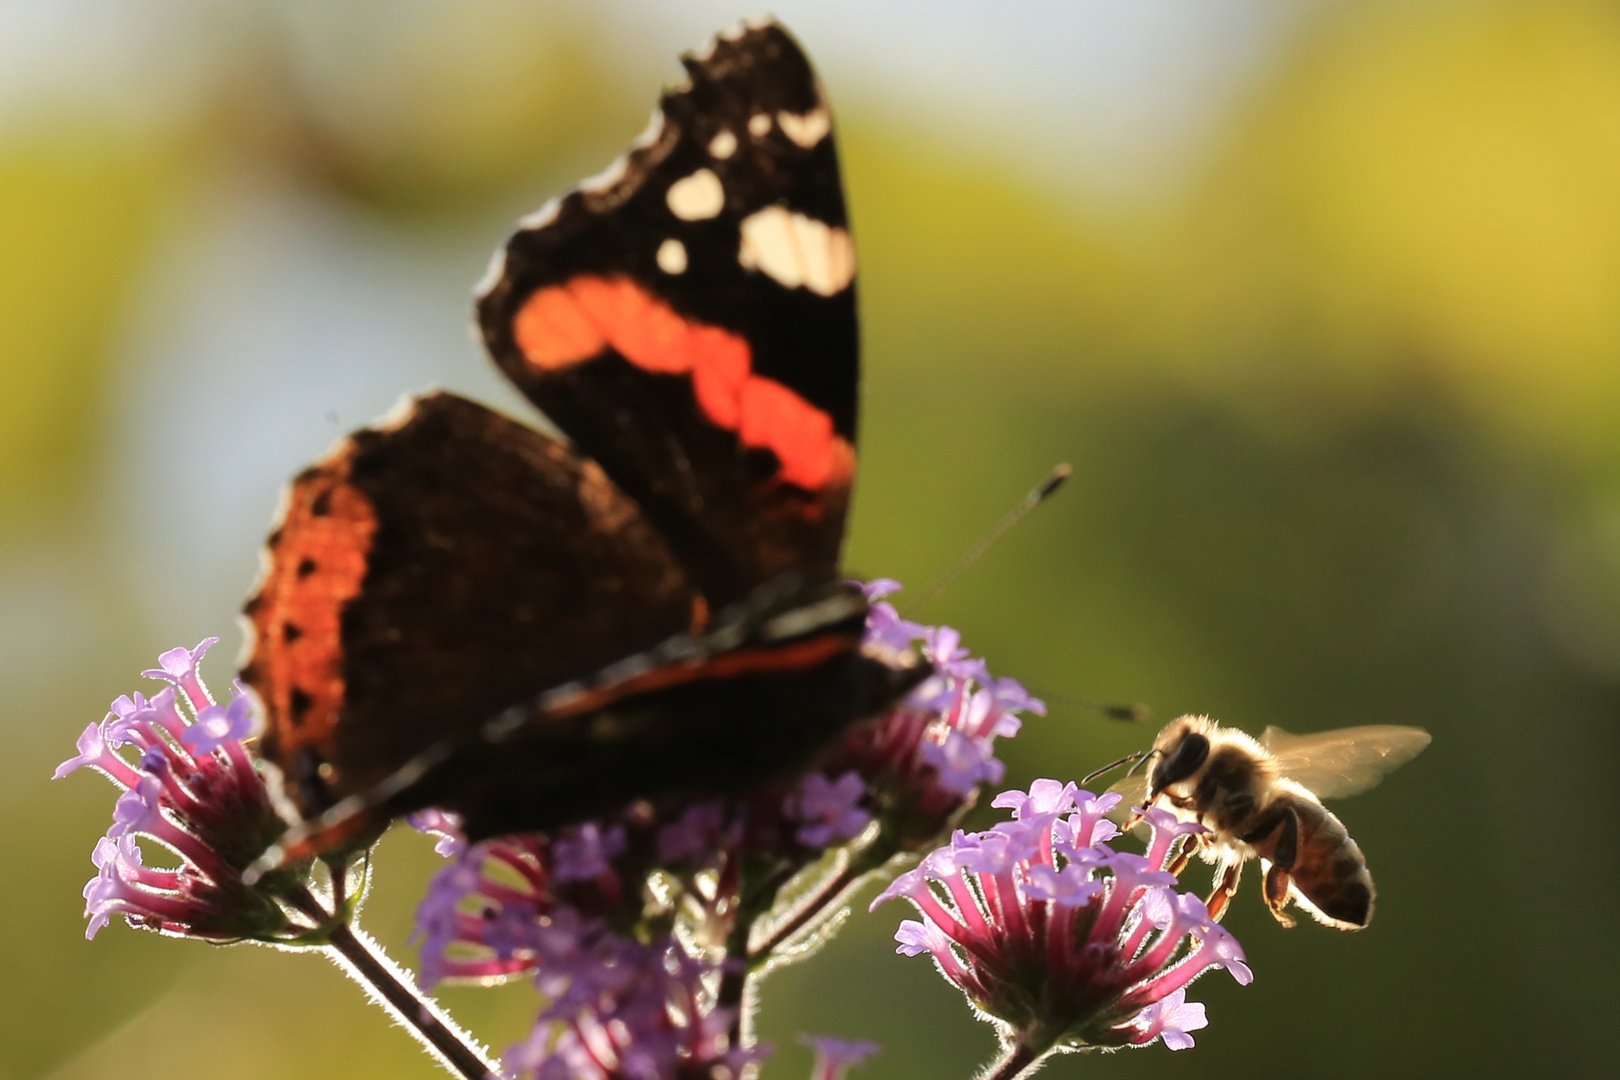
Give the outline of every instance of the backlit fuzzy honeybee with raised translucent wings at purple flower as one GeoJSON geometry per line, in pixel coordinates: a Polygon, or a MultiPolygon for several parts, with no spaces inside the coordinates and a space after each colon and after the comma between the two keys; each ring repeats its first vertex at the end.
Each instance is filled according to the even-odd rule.
{"type": "MultiPolygon", "coordinates": [[[[1162,805],[1209,829],[1187,837],[1170,870],[1179,873],[1194,853],[1215,865],[1212,916],[1226,912],[1244,863],[1259,858],[1265,907],[1278,923],[1294,925],[1283,910],[1293,902],[1319,923],[1361,929],[1372,918],[1372,874],[1322,800],[1367,790],[1427,745],[1421,727],[1314,735],[1267,727],[1256,740],[1207,716],[1183,716],[1165,725],[1152,750],[1124,759],[1150,761],[1147,774],[1110,790],[1124,795],[1124,806],[1162,805]]],[[[1136,821],[1132,814],[1126,827],[1136,821]]]]}

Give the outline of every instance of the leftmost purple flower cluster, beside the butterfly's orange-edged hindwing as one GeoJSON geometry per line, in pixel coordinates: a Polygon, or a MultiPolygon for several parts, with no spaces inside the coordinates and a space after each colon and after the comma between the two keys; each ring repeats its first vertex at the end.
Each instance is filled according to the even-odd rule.
{"type": "Polygon", "coordinates": [[[122,696],[79,735],[78,755],[57,779],[89,766],[123,789],[112,827],[96,844],[97,874],[84,886],[87,938],[113,915],[133,926],[212,941],[279,941],[290,921],[277,889],[301,887],[282,873],[248,887],[241,871],[285,829],[243,746],[253,704],[237,687],[215,704],[198,664],[217,638],[170,649],[141,672],[168,685],[146,698],[122,696]],[[123,751],[134,750],[136,756],[123,751]],[[180,866],[147,866],[139,840],[180,857],[180,866]]]}

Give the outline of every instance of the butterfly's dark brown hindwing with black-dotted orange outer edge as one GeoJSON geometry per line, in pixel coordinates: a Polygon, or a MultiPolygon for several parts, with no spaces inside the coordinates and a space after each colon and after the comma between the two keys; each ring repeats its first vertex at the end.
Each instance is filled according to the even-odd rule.
{"type": "Polygon", "coordinates": [[[688,628],[697,602],[593,461],[450,393],[300,474],[267,554],[241,677],[306,814],[688,628]]]}

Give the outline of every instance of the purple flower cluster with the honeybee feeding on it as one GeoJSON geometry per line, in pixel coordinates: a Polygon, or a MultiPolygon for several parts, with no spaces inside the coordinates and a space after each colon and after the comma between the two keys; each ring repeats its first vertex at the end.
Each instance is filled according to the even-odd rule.
{"type": "Polygon", "coordinates": [[[1252,980],[1236,938],[1165,871],[1202,826],[1149,810],[1147,853],[1116,852],[1103,814],[1118,801],[1058,780],[1003,792],[995,805],[1011,821],[957,831],[872,905],[910,900],[922,920],[901,923],[899,952],[932,955],[1004,1043],[1034,1057],[1155,1040],[1184,1049],[1207,1023],[1187,983],[1212,968],[1252,980]]]}

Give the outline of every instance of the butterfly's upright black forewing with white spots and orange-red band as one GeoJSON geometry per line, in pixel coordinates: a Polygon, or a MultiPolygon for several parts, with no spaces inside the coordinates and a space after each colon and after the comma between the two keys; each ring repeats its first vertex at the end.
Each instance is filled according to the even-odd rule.
{"type": "Polygon", "coordinates": [[[510,238],[478,316],[718,607],[784,570],[836,573],[855,261],[831,113],[792,37],[747,26],[684,63],[635,147],[510,238]]]}

